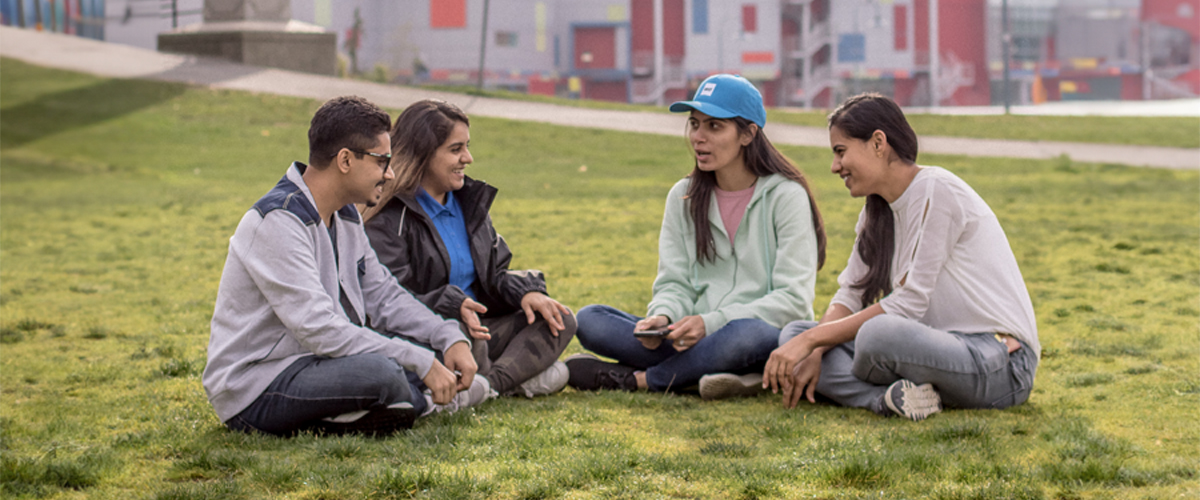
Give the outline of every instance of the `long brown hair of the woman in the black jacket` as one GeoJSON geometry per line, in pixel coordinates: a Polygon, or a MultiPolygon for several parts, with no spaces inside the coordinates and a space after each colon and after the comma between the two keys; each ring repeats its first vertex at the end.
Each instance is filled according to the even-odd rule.
{"type": "Polygon", "coordinates": [[[404,108],[391,127],[391,168],[396,170],[396,177],[383,186],[379,204],[362,212],[364,221],[379,213],[397,193],[410,195],[416,192],[430,158],[458,122],[470,126],[462,109],[442,100],[418,101],[404,108]]]}

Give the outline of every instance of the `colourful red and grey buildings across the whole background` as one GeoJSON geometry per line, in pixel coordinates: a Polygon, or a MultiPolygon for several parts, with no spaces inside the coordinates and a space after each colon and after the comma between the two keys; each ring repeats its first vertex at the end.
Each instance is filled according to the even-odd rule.
{"type": "MultiPolygon", "coordinates": [[[[768,106],[818,108],[1004,102],[1007,4],[1009,102],[1200,95],[1200,0],[290,1],[337,34],[346,71],[379,79],[661,103],[730,72],[768,106]]],[[[203,5],[0,0],[0,20],[154,48],[203,5]]]]}

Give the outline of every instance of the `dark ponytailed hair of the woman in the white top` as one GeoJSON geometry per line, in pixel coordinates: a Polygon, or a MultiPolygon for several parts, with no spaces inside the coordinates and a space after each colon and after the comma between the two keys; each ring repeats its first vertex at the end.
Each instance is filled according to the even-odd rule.
{"type": "MultiPolygon", "coordinates": [[[[917,133],[908,126],[904,112],[880,94],[860,94],[846,100],[829,114],[829,128],[869,140],[882,131],[888,145],[906,163],[917,163],[917,133]]],[[[866,221],[858,234],[858,255],[866,263],[866,276],[852,284],[863,290],[863,308],[892,293],[892,253],[895,249],[895,223],[892,207],[878,194],[866,197],[866,221]]]]}

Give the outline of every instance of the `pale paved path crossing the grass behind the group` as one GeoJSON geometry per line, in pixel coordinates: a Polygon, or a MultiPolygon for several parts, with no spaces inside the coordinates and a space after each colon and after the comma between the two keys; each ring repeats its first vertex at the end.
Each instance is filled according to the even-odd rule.
{"type": "MultiPolygon", "coordinates": [[[[538,121],[569,127],[683,135],[683,119],[659,113],[572,108],[536,102],[473,97],[461,94],[347,80],[283,70],[244,66],[187,55],[162,54],[76,36],[0,26],[0,55],[61,70],[112,78],[146,78],[214,89],[245,90],[319,101],[359,95],[389,108],[404,108],[438,97],[458,104],[468,115],[538,121]]],[[[823,128],[769,125],[775,144],[829,147],[823,128]]],[[[1045,159],[1067,155],[1079,162],[1138,167],[1200,169],[1200,149],[1109,144],[920,137],[920,152],[1045,159]]]]}

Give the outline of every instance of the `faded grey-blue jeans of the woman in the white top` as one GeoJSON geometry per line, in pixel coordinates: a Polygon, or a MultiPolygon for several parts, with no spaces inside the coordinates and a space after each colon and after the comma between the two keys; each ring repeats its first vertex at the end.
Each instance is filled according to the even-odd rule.
{"type": "MultiPolygon", "coordinates": [[[[815,321],[784,327],[784,345],[815,321]]],[[[1028,345],[1008,353],[994,333],[943,332],[889,314],[871,318],[853,341],[826,351],[817,392],[844,406],[888,414],[883,393],[907,379],[932,384],[946,408],[1008,408],[1024,403],[1033,390],[1037,356],[1028,345]]]]}

